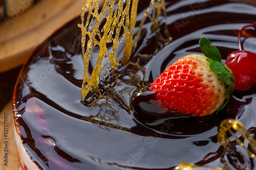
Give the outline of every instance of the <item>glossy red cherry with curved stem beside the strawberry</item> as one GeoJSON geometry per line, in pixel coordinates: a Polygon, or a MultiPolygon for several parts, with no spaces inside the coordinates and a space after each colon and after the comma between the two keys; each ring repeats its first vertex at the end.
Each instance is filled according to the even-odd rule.
{"type": "Polygon", "coordinates": [[[256,81],[256,54],[244,51],[241,43],[242,31],[247,27],[256,27],[256,25],[245,26],[239,31],[240,50],[230,53],[225,63],[233,72],[235,90],[250,89],[256,81]]]}

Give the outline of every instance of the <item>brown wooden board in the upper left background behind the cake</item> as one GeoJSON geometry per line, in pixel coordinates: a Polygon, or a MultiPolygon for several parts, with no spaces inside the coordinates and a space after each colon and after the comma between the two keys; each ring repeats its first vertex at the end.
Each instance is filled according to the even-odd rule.
{"type": "Polygon", "coordinates": [[[39,1],[19,15],[20,8],[16,17],[0,22],[0,72],[22,65],[35,47],[79,16],[82,0],[39,1]]]}

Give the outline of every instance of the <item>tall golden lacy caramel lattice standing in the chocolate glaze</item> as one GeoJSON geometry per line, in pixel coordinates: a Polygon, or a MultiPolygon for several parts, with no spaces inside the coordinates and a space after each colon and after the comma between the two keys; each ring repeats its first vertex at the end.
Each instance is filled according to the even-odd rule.
{"type": "Polygon", "coordinates": [[[137,45],[137,40],[140,36],[145,19],[148,17],[153,22],[153,31],[158,28],[158,17],[160,13],[163,12],[165,15],[164,0],[152,0],[150,2],[150,6],[145,12],[144,18],[140,23],[139,31],[134,37],[133,31],[136,25],[138,2],[139,0],[120,0],[118,1],[118,5],[114,10],[116,0],[105,0],[102,9],[99,12],[98,0],[83,0],[81,24],[78,25],[82,32],[81,42],[84,60],[82,101],[84,101],[89,91],[95,92],[98,90],[100,73],[102,69],[108,64],[102,64],[103,58],[105,56],[109,57],[112,72],[114,72],[114,68],[116,68],[119,63],[122,65],[129,63],[132,50],[137,45]],[[86,22],[84,23],[84,15],[87,9],[89,12],[86,18],[86,22]],[[150,11],[152,10],[153,13],[150,15],[150,11]],[[107,13],[108,15],[106,15],[107,13]],[[103,21],[103,19],[105,19],[105,24],[103,28],[100,28],[100,23],[103,21]],[[92,28],[93,30],[90,31],[92,28]],[[126,42],[124,55],[121,60],[117,60],[117,47],[121,42],[122,37],[125,38],[126,42]],[[86,38],[89,38],[89,40],[86,41],[86,38]],[[107,44],[109,43],[113,43],[112,52],[108,51],[107,44]],[[87,46],[86,49],[85,46],[87,46]],[[99,47],[98,60],[91,76],[89,77],[89,62],[94,52],[95,46],[99,47]]]}

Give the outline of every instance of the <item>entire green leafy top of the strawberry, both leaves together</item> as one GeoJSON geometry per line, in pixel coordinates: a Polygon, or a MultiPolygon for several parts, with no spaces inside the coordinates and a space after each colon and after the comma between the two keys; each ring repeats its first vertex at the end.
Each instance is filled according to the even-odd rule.
{"type": "Polygon", "coordinates": [[[221,55],[218,48],[204,37],[200,38],[200,48],[203,54],[208,57],[207,61],[210,62],[210,69],[227,85],[225,94],[226,100],[224,104],[217,110],[217,113],[222,110],[228,103],[232,92],[234,91],[234,76],[230,68],[221,63],[221,55]]]}

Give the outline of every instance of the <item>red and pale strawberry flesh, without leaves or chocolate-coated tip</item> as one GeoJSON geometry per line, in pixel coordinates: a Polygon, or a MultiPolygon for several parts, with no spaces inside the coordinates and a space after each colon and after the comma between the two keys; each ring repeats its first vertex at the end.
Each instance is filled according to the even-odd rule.
{"type": "Polygon", "coordinates": [[[225,101],[227,85],[210,69],[203,55],[188,55],[163,71],[150,87],[156,100],[169,112],[205,116],[225,101]]]}

